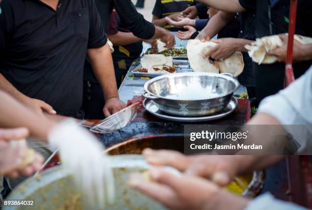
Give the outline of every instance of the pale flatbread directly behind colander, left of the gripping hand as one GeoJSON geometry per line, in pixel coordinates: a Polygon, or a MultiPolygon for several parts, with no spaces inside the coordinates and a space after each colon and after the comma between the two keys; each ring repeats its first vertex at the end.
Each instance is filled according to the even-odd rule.
{"type": "Polygon", "coordinates": [[[197,39],[189,40],[187,45],[188,58],[190,66],[195,72],[219,73],[219,69],[210,62],[209,58],[203,57],[216,45],[214,42],[201,42],[197,39]]]}

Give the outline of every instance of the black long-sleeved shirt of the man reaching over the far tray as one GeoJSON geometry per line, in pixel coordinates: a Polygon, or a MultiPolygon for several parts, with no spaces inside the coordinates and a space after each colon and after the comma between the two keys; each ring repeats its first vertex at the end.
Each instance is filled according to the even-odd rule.
{"type": "MultiPolygon", "coordinates": [[[[98,8],[102,24],[105,29],[108,29],[109,20],[113,8],[117,11],[121,22],[135,36],[141,39],[151,39],[155,35],[155,26],[151,22],[144,19],[143,15],[138,13],[137,9],[131,0],[95,0],[98,8]]],[[[84,80],[90,82],[98,82],[89,61],[86,59],[84,80]]]]}

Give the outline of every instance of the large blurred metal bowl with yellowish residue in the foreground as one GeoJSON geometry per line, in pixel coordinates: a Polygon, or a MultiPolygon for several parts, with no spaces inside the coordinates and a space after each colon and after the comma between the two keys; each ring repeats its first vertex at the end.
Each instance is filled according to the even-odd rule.
{"type": "MultiPolygon", "coordinates": [[[[127,185],[129,175],[133,172],[144,172],[150,168],[142,156],[121,155],[110,157],[110,166],[114,172],[116,201],[105,207],[105,210],[150,209],[165,210],[160,203],[127,185]]],[[[35,206],[4,207],[4,210],[98,210],[96,207],[84,206],[80,193],[73,187],[72,177],[56,166],[43,171],[40,179],[29,178],[8,196],[8,200],[35,200],[35,206]],[[77,199],[78,198],[78,199],[77,199]]],[[[104,186],[103,186],[104,187],[104,186]]],[[[101,208],[102,209],[102,208],[101,208]]]]}

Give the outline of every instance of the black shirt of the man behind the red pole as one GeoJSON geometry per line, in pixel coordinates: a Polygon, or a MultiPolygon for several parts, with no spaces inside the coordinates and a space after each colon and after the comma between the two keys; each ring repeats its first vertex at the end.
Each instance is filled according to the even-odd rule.
{"type": "MultiPolygon", "coordinates": [[[[239,0],[246,10],[254,10],[256,13],[256,37],[288,33],[290,0],[239,0]]],[[[312,1],[298,0],[296,34],[312,37],[312,1]]],[[[312,61],[294,63],[295,78],[300,77],[311,66],[312,61]]],[[[283,88],[284,63],[271,65],[253,64],[257,87],[257,99],[261,101],[267,96],[276,94],[283,88]]]]}

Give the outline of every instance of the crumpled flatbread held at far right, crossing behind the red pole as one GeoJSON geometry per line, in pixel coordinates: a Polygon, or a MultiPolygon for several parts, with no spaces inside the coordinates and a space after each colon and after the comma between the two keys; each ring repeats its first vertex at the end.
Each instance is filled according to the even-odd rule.
{"type": "MultiPolygon", "coordinates": [[[[288,35],[288,34],[285,34],[288,35]]],[[[295,35],[295,40],[301,44],[311,44],[312,38],[295,35]]],[[[279,35],[263,37],[256,39],[251,45],[246,45],[249,56],[253,62],[260,64],[273,64],[277,62],[277,57],[274,55],[268,55],[270,50],[283,46],[285,43],[279,38],[279,35]]]]}

